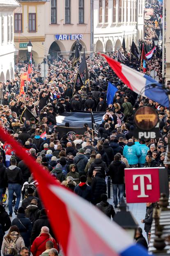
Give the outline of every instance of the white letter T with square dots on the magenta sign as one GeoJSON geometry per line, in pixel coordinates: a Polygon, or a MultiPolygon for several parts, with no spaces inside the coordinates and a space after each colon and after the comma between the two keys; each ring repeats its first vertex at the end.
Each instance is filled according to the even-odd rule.
{"type": "MultiPolygon", "coordinates": [[[[145,194],[145,181],[144,178],[148,178],[149,182],[152,183],[152,179],[151,179],[151,174],[138,174],[138,175],[133,175],[133,184],[136,181],[136,178],[140,178],[140,195],[138,195],[137,197],[149,197],[149,195],[145,194]]],[[[152,185],[151,184],[147,184],[146,187],[147,190],[152,190],[152,185]]],[[[139,190],[139,186],[138,185],[133,185],[133,190],[139,190]]]]}

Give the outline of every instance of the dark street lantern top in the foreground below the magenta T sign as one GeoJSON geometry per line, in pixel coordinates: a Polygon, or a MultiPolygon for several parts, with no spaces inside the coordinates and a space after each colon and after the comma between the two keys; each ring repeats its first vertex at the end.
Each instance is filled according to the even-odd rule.
{"type": "Polygon", "coordinates": [[[138,228],[138,223],[133,217],[130,211],[127,211],[127,204],[124,202],[124,199],[119,204],[119,210],[115,214],[113,220],[121,226],[132,239],[135,238],[136,229],[138,228]]]}

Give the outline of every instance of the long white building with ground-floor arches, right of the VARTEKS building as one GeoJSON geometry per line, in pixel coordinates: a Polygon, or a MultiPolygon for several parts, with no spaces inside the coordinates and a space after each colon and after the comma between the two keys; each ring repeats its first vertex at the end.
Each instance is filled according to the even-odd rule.
{"type": "Polygon", "coordinates": [[[94,0],[94,51],[126,49],[143,38],[145,0],[94,0]],[[138,12],[137,12],[138,9],[138,12]]]}

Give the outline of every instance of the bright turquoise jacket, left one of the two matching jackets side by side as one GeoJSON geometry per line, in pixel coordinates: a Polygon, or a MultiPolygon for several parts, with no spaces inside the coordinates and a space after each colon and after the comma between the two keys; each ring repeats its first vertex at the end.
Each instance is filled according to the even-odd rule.
{"type": "Polygon", "coordinates": [[[129,164],[138,164],[138,157],[141,155],[141,151],[138,146],[133,142],[128,142],[123,149],[123,155],[128,160],[129,164]]]}

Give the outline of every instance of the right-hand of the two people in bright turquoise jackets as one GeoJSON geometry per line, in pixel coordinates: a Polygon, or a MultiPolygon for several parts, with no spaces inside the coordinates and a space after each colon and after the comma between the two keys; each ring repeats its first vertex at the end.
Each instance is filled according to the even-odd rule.
{"type": "Polygon", "coordinates": [[[138,158],[138,167],[142,168],[144,167],[145,164],[145,158],[147,155],[147,152],[149,151],[149,148],[146,146],[146,141],[145,140],[140,140],[139,143],[139,139],[135,139],[135,145],[139,147],[141,155],[138,158]]]}

